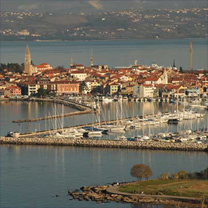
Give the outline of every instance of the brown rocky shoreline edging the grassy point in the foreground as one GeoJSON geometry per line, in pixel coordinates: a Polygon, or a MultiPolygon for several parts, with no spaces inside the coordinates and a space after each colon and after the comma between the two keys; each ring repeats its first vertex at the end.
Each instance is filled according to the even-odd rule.
{"type": "Polygon", "coordinates": [[[188,198],[179,196],[161,196],[161,195],[145,195],[145,194],[129,194],[116,193],[118,185],[106,186],[83,186],[79,190],[68,191],[70,200],[94,201],[96,203],[150,203],[150,204],[166,204],[184,207],[200,207],[201,200],[198,198],[188,198]]]}

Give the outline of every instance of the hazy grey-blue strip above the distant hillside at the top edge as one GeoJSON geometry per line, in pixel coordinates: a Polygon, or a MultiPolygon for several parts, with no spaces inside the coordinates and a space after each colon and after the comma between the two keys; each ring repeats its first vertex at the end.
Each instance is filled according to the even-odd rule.
{"type": "Polygon", "coordinates": [[[206,7],[207,0],[0,0],[1,11],[108,12],[124,9],[206,7]]]}

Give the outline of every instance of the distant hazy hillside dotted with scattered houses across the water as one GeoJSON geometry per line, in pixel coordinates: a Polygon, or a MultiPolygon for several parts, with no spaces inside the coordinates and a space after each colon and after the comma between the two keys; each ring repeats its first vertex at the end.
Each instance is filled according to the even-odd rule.
{"type": "Polygon", "coordinates": [[[206,38],[207,7],[99,13],[2,11],[2,40],[206,38]],[[41,22],[41,24],[40,24],[41,22]]]}

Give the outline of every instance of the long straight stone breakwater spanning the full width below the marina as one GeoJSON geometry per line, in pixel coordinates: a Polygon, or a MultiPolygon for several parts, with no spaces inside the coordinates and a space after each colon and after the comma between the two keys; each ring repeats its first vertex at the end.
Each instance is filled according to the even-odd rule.
{"type": "Polygon", "coordinates": [[[151,149],[151,150],[180,150],[180,151],[207,151],[207,144],[197,143],[171,143],[159,141],[113,141],[95,139],[65,139],[65,138],[12,138],[0,137],[0,144],[15,145],[54,145],[97,148],[123,148],[123,149],[151,149]]]}

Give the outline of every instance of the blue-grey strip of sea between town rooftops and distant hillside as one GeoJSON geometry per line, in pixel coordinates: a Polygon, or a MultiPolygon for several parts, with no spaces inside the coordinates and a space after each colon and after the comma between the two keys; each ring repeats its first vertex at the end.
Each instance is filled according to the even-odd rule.
{"type": "Polygon", "coordinates": [[[110,67],[138,64],[176,66],[189,69],[189,42],[193,42],[194,69],[208,69],[207,39],[132,40],[132,41],[75,41],[75,42],[1,42],[1,63],[23,63],[26,44],[35,64],[50,63],[53,67],[69,67],[75,63],[90,65],[90,51],[94,64],[110,67]]]}

